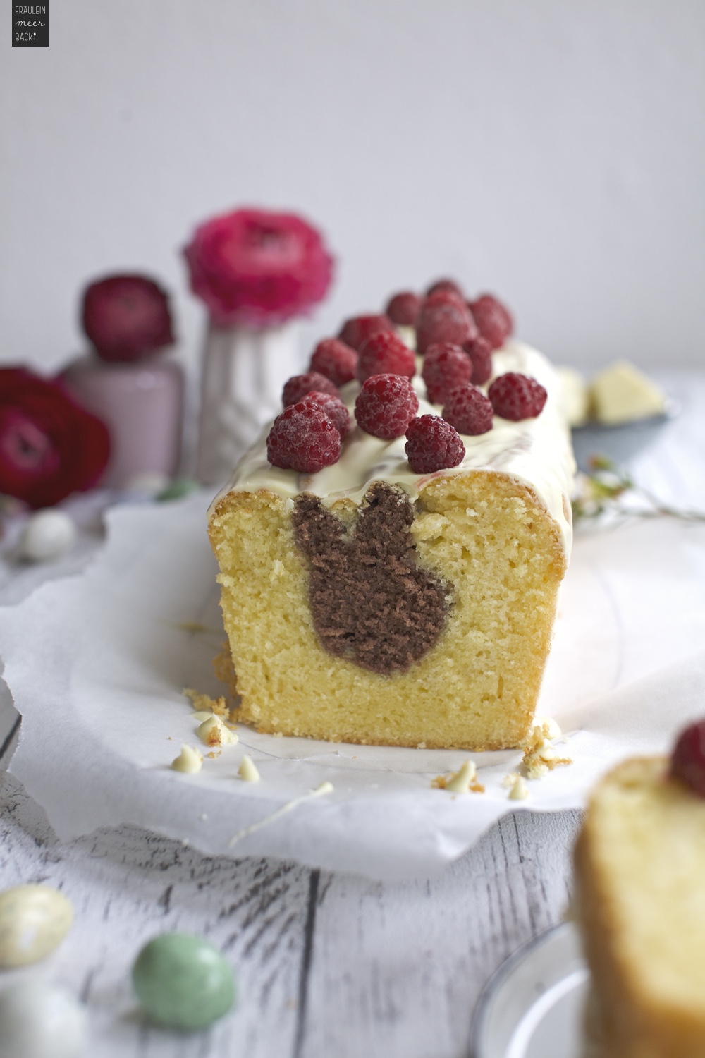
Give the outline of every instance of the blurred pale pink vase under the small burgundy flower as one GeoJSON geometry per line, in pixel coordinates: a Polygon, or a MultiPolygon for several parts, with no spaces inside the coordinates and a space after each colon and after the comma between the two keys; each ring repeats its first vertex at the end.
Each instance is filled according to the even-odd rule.
{"type": "Polygon", "coordinates": [[[110,431],[110,461],[99,485],[120,489],[137,474],[179,470],[184,377],[163,354],[133,363],[75,360],[61,381],[110,431]]]}

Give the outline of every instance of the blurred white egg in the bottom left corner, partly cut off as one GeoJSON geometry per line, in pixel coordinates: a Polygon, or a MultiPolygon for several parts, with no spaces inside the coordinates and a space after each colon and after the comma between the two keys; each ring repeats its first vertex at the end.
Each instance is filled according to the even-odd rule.
{"type": "Polygon", "coordinates": [[[86,1010],[64,988],[20,981],[0,992],[0,1055],[79,1058],[86,1010]]]}

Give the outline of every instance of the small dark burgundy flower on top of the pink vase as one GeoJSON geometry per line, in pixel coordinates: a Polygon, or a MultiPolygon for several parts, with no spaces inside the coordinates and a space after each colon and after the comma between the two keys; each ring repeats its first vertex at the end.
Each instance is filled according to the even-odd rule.
{"type": "Polygon", "coordinates": [[[82,321],[103,360],[141,360],[173,342],[168,297],[144,275],[109,275],[90,284],[82,321]]]}

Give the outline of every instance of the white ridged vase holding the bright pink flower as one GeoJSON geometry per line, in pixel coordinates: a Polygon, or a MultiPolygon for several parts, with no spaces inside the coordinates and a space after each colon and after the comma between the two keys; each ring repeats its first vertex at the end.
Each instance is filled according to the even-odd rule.
{"type": "Polygon", "coordinates": [[[296,373],[296,323],[279,327],[208,326],[201,378],[197,477],[222,485],[262,426],[282,411],[281,390],[296,373]]]}

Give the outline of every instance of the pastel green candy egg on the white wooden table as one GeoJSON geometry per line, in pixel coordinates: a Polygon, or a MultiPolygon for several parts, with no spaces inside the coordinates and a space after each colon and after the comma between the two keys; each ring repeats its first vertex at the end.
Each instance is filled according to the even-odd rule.
{"type": "Polygon", "coordinates": [[[142,949],[132,983],[145,1013],[171,1028],[205,1028],[235,1003],[235,975],[218,948],[189,933],[162,933],[142,949]]]}

